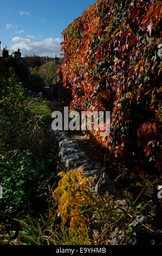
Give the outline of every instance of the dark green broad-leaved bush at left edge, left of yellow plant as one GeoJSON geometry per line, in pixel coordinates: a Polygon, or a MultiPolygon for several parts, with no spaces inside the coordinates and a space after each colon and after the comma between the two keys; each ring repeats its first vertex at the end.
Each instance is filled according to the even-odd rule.
{"type": "Polygon", "coordinates": [[[38,161],[34,160],[29,150],[15,150],[10,157],[0,155],[0,180],[3,187],[3,198],[0,201],[1,212],[5,219],[8,215],[25,214],[27,209],[36,206],[48,196],[47,189],[40,185],[51,175],[50,155],[38,161]],[[40,198],[40,199],[39,199],[40,198]]]}

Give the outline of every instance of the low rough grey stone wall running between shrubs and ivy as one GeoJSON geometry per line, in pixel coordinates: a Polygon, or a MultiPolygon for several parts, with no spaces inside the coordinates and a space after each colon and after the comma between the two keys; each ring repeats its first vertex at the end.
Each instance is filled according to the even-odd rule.
{"type": "Polygon", "coordinates": [[[111,193],[115,196],[119,192],[105,172],[102,170],[98,163],[90,160],[86,154],[77,147],[73,139],[68,137],[68,133],[64,131],[54,131],[51,126],[49,127],[50,137],[54,142],[55,147],[59,151],[59,160],[61,166],[67,171],[70,169],[82,170],[86,176],[92,176],[91,190],[93,193],[111,193]]]}

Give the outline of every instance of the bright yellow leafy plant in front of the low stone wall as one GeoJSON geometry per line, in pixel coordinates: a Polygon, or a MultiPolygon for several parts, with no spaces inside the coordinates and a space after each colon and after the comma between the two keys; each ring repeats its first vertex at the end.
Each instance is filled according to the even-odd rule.
{"type": "Polygon", "coordinates": [[[62,179],[53,193],[53,198],[58,203],[57,215],[61,216],[63,226],[69,224],[71,237],[79,235],[80,241],[84,240],[87,235],[86,226],[90,224],[88,205],[91,197],[88,185],[92,177],[84,176],[83,170],[70,170],[58,175],[62,179]]]}

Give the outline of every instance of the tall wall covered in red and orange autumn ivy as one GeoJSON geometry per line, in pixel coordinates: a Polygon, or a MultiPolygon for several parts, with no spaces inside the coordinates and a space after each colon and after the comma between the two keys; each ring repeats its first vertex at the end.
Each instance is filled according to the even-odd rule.
{"type": "Polygon", "coordinates": [[[111,111],[96,141],[137,171],[160,170],[161,1],[99,0],[63,31],[70,108],[111,111]]]}

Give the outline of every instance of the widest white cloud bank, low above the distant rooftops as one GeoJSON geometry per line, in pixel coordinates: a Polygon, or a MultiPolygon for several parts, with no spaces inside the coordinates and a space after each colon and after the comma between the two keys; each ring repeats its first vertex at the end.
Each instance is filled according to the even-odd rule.
{"type": "Polygon", "coordinates": [[[22,56],[35,53],[38,56],[54,57],[55,55],[60,56],[61,53],[61,38],[47,38],[42,41],[32,42],[28,38],[25,39],[19,36],[15,36],[12,38],[12,42],[16,43],[11,45],[11,49],[14,51],[21,49],[22,56]]]}

